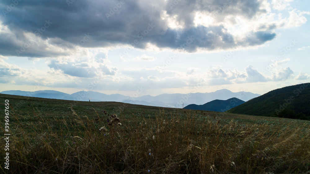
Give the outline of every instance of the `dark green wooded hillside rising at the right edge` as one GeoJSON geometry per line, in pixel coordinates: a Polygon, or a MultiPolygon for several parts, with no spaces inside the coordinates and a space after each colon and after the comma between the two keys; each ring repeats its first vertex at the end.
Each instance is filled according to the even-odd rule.
{"type": "Polygon", "coordinates": [[[309,119],[310,83],[272,90],[234,107],[229,113],[309,119]]]}

